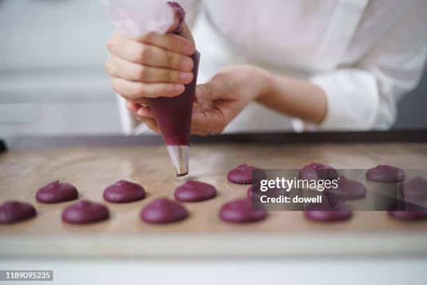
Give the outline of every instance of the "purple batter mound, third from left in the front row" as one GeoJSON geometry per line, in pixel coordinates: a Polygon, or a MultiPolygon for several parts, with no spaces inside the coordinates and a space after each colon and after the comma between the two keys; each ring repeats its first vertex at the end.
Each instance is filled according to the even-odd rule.
{"type": "Polygon", "coordinates": [[[141,211],[141,219],[151,224],[173,223],[186,217],[188,217],[186,208],[168,198],[153,200],[141,211]]]}

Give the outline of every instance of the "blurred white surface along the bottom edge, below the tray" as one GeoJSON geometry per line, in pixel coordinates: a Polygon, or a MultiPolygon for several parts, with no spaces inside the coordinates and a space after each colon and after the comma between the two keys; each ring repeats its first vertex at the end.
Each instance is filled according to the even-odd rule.
{"type": "MultiPolygon", "coordinates": [[[[1,270],[54,270],[49,284],[427,284],[427,258],[1,259],[1,270]]],[[[47,282],[27,282],[47,284],[47,282]]],[[[27,284],[26,283],[26,284],[27,284]]],[[[13,284],[22,284],[13,282],[13,284]]]]}

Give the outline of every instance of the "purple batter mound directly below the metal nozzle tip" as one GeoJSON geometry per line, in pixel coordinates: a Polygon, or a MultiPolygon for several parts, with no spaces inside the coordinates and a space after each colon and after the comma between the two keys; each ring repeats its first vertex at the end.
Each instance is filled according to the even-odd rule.
{"type": "Polygon", "coordinates": [[[211,184],[190,180],[177,187],[175,199],[180,202],[199,202],[216,196],[216,189],[211,184]]]}

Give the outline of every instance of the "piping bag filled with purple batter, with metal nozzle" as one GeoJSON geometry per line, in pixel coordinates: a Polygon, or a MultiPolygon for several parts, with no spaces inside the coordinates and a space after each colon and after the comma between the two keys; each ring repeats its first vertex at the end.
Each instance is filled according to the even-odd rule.
{"type": "MultiPolygon", "coordinates": [[[[130,37],[142,37],[151,32],[165,34],[179,17],[179,25],[174,34],[181,34],[185,12],[176,2],[158,0],[100,0],[105,15],[122,34],[130,37]]],[[[185,85],[185,91],[179,96],[148,98],[148,103],[160,127],[163,141],[167,147],[177,176],[188,173],[190,152],[190,125],[193,112],[197,71],[200,54],[190,56],[193,59],[193,81],[185,85]]]]}

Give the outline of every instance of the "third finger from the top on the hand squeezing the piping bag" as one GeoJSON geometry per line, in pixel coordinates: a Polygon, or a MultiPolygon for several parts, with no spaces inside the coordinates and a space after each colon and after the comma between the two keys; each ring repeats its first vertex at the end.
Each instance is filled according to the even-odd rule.
{"type": "Polygon", "coordinates": [[[105,64],[105,69],[114,78],[130,81],[188,84],[193,80],[192,72],[135,64],[116,55],[110,57],[105,64]]]}

